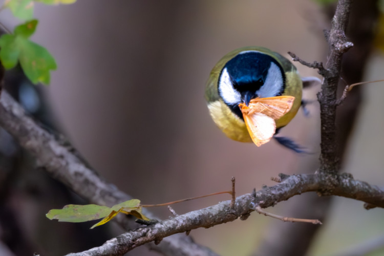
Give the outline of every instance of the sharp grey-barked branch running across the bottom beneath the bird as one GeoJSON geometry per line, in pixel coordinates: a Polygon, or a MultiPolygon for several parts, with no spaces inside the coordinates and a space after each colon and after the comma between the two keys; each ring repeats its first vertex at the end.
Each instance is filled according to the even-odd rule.
{"type": "Polygon", "coordinates": [[[164,237],[175,233],[200,227],[209,228],[238,218],[245,220],[258,205],[266,208],[308,191],[353,198],[377,207],[384,207],[383,190],[366,182],[354,180],[350,175],[293,175],[275,186],[265,187],[255,193],[236,198],[233,208],[230,200],[220,202],[214,206],[126,232],[100,247],[71,253],[68,256],[124,254],[140,245],[161,241],[164,237]]]}

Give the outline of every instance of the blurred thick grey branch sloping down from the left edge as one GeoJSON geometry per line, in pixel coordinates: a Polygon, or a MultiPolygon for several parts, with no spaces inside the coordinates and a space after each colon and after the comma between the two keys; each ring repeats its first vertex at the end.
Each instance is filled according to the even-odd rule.
{"type": "MultiPolygon", "coordinates": [[[[0,125],[7,130],[21,146],[33,155],[38,165],[44,167],[57,180],[67,184],[79,196],[99,205],[112,206],[132,199],[131,196],[107,183],[83,162],[68,142],[54,137],[42,129],[24,109],[6,92],[0,100],[0,125]]],[[[144,214],[155,219],[151,212],[144,214]]],[[[117,218],[125,229],[137,227],[128,218],[117,218]]],[[[184,251],[180,255],[216,255],[208,248],[197,245],[184,236],[174,236],[156,246],[164,255],[173,255],[172,251],[184,251]]]]}

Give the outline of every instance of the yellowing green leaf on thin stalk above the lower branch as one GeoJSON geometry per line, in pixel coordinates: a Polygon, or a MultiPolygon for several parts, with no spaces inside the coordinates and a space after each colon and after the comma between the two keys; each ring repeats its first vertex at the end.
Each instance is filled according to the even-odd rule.
{"type": "Polygon", "coordinates": [[[138,219],[149,220],[141,213],[142,206],[140,200],[132,199],[112,207],[100,206],[95,204],[88,205],[66,205],[62,209],[52,209],[46,215],[48,219],[56,219],[66,222],[85,222],[103,218],[100,222],[93,225],[91,228],[105,224],[115,218],[122,212],[126,215],[133,215],[138,219]]]}

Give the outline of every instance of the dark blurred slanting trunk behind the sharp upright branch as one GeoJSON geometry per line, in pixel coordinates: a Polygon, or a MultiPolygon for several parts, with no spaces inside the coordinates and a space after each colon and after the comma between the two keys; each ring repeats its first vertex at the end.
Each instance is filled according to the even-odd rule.
{"type": "MultiPolygon", "coordinates": [[[[335,6],[327,6],[324,12],[331,21],[335,13],[335,6]]],[[[348,83],[359,82],[362,79],[366,63],[373,50],[376,31],[372,28],[377,24],[378,12],[377,0],[354,1],[351,7],[346,33],[348,38],[353,41],[354,47],[343,55],[342,63],[342,76],[348,83]]],[[[313,68],[321,68],[321,66],[315,65],[313,68]]],[[[343,91],[344,86],[343,83],[343,87],[338,87],[338,93],[343,91]]],[[[337,107],[335,144],[338,145],[337,156],[341,164],[343,164],[343,155],[356,120],[360,101],[360,88],[356,87],[348,94],[343,104],[337,107]]],[[[317,161],[303,163],[295,172],[307,173],[309,169],[316,168],[318,168],[317,161]]],[[[305,216],[326,221],[331,200],[331,197],[303,195],[300,200],[293,199],[283,209],[283,215],[305,216]]],[[[254,255],[306,255],[319,228],[320,226],[315,225],[286,225],[286,223],[274,222],[268,227],[264,241],[254,255]]]]}

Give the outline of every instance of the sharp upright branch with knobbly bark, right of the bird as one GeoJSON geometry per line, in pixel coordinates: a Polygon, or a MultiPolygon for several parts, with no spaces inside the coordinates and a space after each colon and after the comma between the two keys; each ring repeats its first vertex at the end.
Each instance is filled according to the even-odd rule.
{"type": "Polygon", "coordinates": [[[342,66],[342,56],[353,46],[352,42],[347,41],[345,36],[351,2],[351,0],[338,1],[335,15],[332,19],[331,30],[325,32],[330,47],[330,54],[324,72],[325,79],[322,90],[317,95],[321,111],[321,172],[335,173],[339,168],[335,125],[336,91],[342,66]]]}

